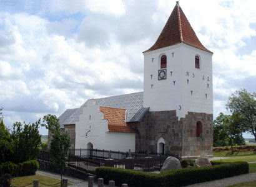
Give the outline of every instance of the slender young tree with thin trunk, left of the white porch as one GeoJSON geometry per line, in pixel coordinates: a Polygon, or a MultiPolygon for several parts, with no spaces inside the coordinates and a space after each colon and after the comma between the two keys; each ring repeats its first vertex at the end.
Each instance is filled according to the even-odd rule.
{"type": "Polygon", "coordinates": [[[61,125],[59,125],[59,119],[56,116],[48,114],[44,116],[44,122],[47,123],[44,126],[46,129],[51,130],[52,140],[49,153],[53,156],[50,160],[51,165],[61,171],[67,167],[66,162],[69,157],[69,147],[71,147],[71,139],[67,133],[61,134],[61,125]]]}

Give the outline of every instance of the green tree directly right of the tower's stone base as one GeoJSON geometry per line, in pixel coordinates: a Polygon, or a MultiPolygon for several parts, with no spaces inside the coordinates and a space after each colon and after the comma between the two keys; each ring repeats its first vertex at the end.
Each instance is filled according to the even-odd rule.
{"type": "Polygon", "coordinates": [[[242,129],[239,126],[239,115],[224,115],[220,112],[219,116],[214,120],[214,146],[231,147],[231,154],[234,153],[233,145],[235,140],[239,142],[242,137],[242,129]]]}

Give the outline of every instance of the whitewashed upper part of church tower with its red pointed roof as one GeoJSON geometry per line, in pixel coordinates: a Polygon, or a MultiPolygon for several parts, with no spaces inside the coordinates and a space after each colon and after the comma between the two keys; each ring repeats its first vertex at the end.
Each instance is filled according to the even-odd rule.
{"type": "Polygon", "coordinates": [[[157,41],[144,54],[144,107],[213,113],[212,52],[202,45],[177,1],[157,41]]]}

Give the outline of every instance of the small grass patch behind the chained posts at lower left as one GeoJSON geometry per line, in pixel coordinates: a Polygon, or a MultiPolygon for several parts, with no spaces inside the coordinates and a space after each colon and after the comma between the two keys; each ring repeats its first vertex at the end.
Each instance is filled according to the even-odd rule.
{"type": "MultiPolygon", "coordinates": [[[[11,180],[11,185],[13,186],[25,186],[28,185],[30,183],[32,183],[32,181],[34,180],[39,180],[39,187],[42,186],[49,186],[49,185],[54,185],[54,187],[56,186],[60,186],[60,180],[54,179],[54,178],[49,178],[47,176],[42,176],[42,175],[31,175],[31,176],[21,176],[21,177],[15,177],[12,178],[11,180]],[[44,183],[46,185],[42,185],[41,183],[44,183]],[[58,185],[55,185],[59,183],[58,185]]],[[[69,183],[68,185],[71,185],[71,183],[69,183]]],[[[33,183],[29,186],[33,186],[33,183]]]]}

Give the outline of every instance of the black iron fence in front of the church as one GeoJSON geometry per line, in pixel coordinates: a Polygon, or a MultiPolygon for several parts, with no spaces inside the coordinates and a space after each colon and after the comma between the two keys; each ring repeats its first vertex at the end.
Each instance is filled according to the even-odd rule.
{"type": "MultiPolygon", "coordinates": [[[[72,149],[69,153],[67,166],[74,171],[94,174],[100,166],[132,169],[137,171],[160,171],[165,159],[175,155],[142,154],[130,152],[117,152],[98,149],[72,149]]],[[[41,151],[38,157],[43,170],[54,170],[49,165],[53,157],[48,152],[41,151]]]]}

